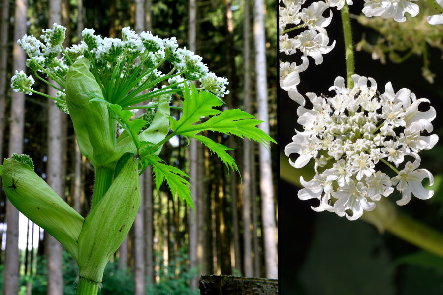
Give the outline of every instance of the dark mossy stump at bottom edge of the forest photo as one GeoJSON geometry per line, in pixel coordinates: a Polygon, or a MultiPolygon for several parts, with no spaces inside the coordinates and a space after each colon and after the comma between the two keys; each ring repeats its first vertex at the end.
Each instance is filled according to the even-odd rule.
{"type": "Polygon", "coordinates": [[[229,275],[202,275],[200,295],[278,295],[279,281],[229,275]]]}

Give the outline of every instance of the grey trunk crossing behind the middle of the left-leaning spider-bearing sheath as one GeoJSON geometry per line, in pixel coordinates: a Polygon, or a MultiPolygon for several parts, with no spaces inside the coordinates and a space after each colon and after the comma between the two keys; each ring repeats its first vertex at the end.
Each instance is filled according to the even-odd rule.
{"type": "MultiPolygon", "coordinates": [[[[61,24],[61,0],[49,1],[48,28],[53,23],[61,24]]],[[[50,83],[53,83],[50,81],[50,83]]],[[[48,86],[48,95],[55,97],[57,90],[48,86]]],[[[63,147],[62,134],[63,123],[59,108],[52,99],[48,99],[48,166],[47,183],[62,198],[63,191],[63,147]]],[[[62,272],[62,245],[52,236],[45,232],[45,257],[47,265],[47,288],[46,294],[63,294],[63,272],[62,272]]]]}

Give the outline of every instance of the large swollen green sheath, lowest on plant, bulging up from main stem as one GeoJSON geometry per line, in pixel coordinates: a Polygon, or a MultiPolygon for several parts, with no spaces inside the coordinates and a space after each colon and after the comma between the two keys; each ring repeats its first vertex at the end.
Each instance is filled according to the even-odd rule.
{"type": "Polygon", "coordinates": [[[80,278],[99,284],[109,259],[127,236],[140,206],[139,159],[127,159],[103,198],[86,217],[78,238],[80,278]]]}

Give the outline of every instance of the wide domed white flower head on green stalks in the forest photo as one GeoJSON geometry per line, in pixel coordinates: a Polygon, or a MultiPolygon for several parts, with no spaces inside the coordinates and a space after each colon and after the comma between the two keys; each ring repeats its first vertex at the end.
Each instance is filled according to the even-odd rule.
{"type": "Polygon", "coordinates": [[[12,77],[11,87],[16,92],[50,97],[65,112],[66,76],[69,67],[81,58],[90,60],[90,70],[100,84],[103,99],[122,108],[160,95],[182,93],[187,81],[198,81],[198,90],[210,91],[219,97],[229,93],[227,79],[210,72],[202,58],[186,47],[178,48],[175,37],[161,39],[151,32],[142,32],[139,36],[125,27],[122,39],[102,38],[94,34],[94,29],[84,29],[80,44],[63,48],[65,27],[54,23],[53,29],[42,31],[44,42],[33,35],[25,35],[17,43],[28,54],[26,65],[34,76],[47,84],[50,82],[45,78],[51,78],[59,85],[50,84],[58,90],[57,96],[50,97],[32,89],[34,79],[23,71],[12,77]],[[163,63],[166,65],[161,69],[166,69],[166,74],[159,70],[163,63]],[[156,87],[158,84],[161,84],[160,88],[156,87]]]}

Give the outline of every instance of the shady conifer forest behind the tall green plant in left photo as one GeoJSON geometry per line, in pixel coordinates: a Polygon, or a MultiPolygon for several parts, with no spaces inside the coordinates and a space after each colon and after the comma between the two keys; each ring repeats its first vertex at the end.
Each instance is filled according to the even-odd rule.
{"type": "MultiPolygon", "coordinates": [[[[262,31],[266,33],[264,48],[267,77],[264,77],[265,80],[260,77],[262,80],[258,81],[267,81],[267,90],[261,91],[266,93],[256,91],[255,81],[260,74],[254,68],[256,46],[253,39],[253,0],[62,0],[54,1],[59,3],[56,8],[48,0],[26,2],[1,1],[0,48],[3,63],[0,64],[0,158],[10,157],[12,151],[17,151],[11,151],[11,148],[18,142],[22,146],[21,152],[33,159],[36,173],[47,179],[48,183],[55,182],[59,194],[83,216],[89,211],[94,172],[76,147],[70,120],[58,110],[60,117],[56,121],[52,117],[48,118],[54,103],[48,104],[46,98],[37,95],[24,97],[25,109],[16,110],[13,103],[17,101],[14,96],[17,93],[12,92],[8,83],[14,74],[12,70],[20,70],[13,58],[17,39],[25,33],[38,38],[41,29],[52,28],[52,25],[48,25],[49,19],[59,18],[60,24],[67,27],[64,46],[77,44],[84,28],[93,28],[96,34],[103,37],[121,37],[123,27],[130,26],[138,30],[142,24],[141,30],[150,30],[160,38],[175,36],[180,47],[186,46],[193,50],[203,57],[203,62],[207,63],[211,71],[228,78],[227,89],[230,94],[225,97],[225,102],[229,108],[249,108],[252,114],[257,114],[257,98],[264,97],[268,102],[270,135],[277,138],[277,12],[274,0],[266,0],[262,11],[265,26],[262,31]],[[245,15],[246,6],[249,7],[249,14],[245,15]],[[25,30],[19,37],[15,36],[17,26],[25,30]],[[190,37],[192,35],[196,36],[194,40],[190,37]],[[245,48],[245,42],[249,44],[249,49],[245,48]],[[24,115],[23,136],[23,133],[14,131],[14,124],[11,123],[16,120],[14,116],[17,116],[17,111],[24,115]],[[58,136],[54,136],[51,131],[54,125],[59,128],[58,136]],[[60,161],[56,162],[56,168],[50,168],[50,165],[54,165],[51,155],[55,153],[60,154],[60,161]],[[62,174],[58,173],[60,171],[62,174]]],[[[34,89],[46,92],[46,86],[39,82],[36,81],[34,89]]],[[[193,215],[185,205],[174,199],[166,186],[156,195],[155,191],[153,193],[151,177],[143,177],[143,205],[128,238],[105,271],[103,294],[198,294],[195,287],[200,274],[269,276],[262,226],[262,212],[266,209],[262,208],[263,192],[259,185],[263,182],[260,179],[259,149],[254,144],[246,149],[241,139],[225,138],[218,134],[212,138],[233,148],[231,155],[236,159],[243,178],[227,171],[220,159],[211,155],[207,149],[198,147],[194,154],[183,138],[168,142],[162,149],[162,158],[175,163],[184,171],[189,171],[192,162],[198,167],[193,177],[196,222],[193,222],[193,215]],[[245,175],[250,175],[246,184],[245,175]],[[243,206],[245,191],[251,200],[248,207],[243,206]],[[249,216],[246,222],[245,216],[249,216]],[[245,230],[245,226],[249,230],[245,230]],[[190,238],[190,235],[195,238],[190,238]]],[[[271,171],[278,171],[275,146],[271,147],[270,155],[271,171]]],[[[274,200],[272,205],[275,213],[272,219],[276,224],[275,184],[278,174],[268,177],[273,177],[271,200],[274,200]]],[[[5,252],[5,217],[6,196],[2,189],[1,272],[8,260],[5,256],[8,255],[8,251],[5,252]]],[[[62,256],[60,247],[54,246],[55,241],[50,236],[43,235],[43,231],[29,221],[25,221],[25,224],[26,227],[20,229],[20,235],[26,236],[28,246],[20,250],[19,258],[16,259],[20,270],[20,280],[17,280],[19,294],[30,294],[27,292],[31,290],[32,294],[60,294],[57,291],[60,288],[63,294],[74,294],[77,275],[75,263],[68,255],[62,256]],[[47,270],[47,261],[54,259],[56,268],[47,270]],[[48,281],[47,273],[53,274],[48,277],[54,274],[60,274],[61,277],[63,273],[64,281],[48,281]]],[[[276,245],[277,232],[270,239],[270,243],[276,245]]],[[[3,281],[2,273],[0,290],[4,283],[10,282],[7,276],[5,278],[3,281]]]]}

